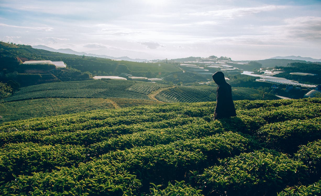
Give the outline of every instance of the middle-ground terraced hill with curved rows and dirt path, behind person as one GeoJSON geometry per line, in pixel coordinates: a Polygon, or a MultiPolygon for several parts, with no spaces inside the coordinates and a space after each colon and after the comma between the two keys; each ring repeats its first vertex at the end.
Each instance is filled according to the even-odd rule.
{"type": "MultiPolygon", "coordinates": [[[[0,105],[2,121],[81,111],[152,105],[162,102],[216,101],[216,86],[171,86],[133,80],[53,82],[20,88],[0,105]],[[15,111],[15,112],[13,112],[15,111]]],[[[232,89],[234,100],[274,100],[256,89],[232,89]]]]}

